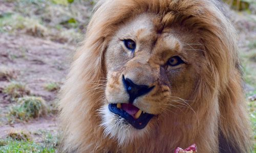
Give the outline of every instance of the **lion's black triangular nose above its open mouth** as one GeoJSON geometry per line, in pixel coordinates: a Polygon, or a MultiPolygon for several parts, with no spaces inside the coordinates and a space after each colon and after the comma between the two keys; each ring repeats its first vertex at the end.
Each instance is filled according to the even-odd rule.
{"type": "Polygon", "coordinates": [[[123,75],[123,85],[125,90],[129,93],[129,96],[130,96],[129,103],[133,103],[134,99],[150,92],[155,87],[155,86],[152,86],[148,88],[148,86],[145,86],[145,85],[136,85],[129,78],[125,79],[124,75],[123,75]]]}

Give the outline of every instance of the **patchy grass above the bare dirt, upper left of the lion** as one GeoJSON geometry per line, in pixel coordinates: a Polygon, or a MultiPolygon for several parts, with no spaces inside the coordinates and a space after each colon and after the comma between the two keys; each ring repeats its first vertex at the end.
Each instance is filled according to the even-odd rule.
{"type": "Polygon", "coordinates": [[[13,12],[0,13],[0,33],[25,33],[61,43],[80,41],[95,3],[91,0],[6,0],[13,12]],[[24,9],[26,8],[26,9],[24,9]]]}

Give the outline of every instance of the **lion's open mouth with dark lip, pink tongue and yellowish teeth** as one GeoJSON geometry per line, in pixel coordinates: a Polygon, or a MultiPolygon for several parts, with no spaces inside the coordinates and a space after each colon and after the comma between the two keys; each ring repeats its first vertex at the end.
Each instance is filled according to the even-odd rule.
{"type": "Polygon", "coordinates": [[[109,110],[133,125],[136,129],[143,129],[154,116],[141,111],[132,104],[110,104],[109,110]]]}

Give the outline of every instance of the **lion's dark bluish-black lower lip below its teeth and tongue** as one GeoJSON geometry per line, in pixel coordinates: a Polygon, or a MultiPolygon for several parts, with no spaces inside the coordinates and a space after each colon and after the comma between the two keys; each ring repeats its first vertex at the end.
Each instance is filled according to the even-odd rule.
{"type": "Polygon", "coordinates": [[[147,123],[151,120],[151,118],[154,116],[153,114],[142,113],[138,119],[134,119],[133,116],[131,116],[124,110],[117,108],[117,104],[110,104],[109,110],[115,113],[116,115],[121,116],[127,122],[129,122],[133,127],[139,130],[143,129],[147,125],[147,123]]]}

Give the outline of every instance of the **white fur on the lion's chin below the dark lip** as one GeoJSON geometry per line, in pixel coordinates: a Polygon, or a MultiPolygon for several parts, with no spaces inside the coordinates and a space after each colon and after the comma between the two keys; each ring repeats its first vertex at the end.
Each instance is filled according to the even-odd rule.
{"type": "Polygon", "coordinates": [[[119,145],[126,145],[134,139],[143,137],[149,133],[147,127],[141,130],[135,129],[124,118],[112,113],[108,105],[99,109],[99,113],[102,118],[100,126],[103,126],[104,137],[117,139],[119,145]]]}

